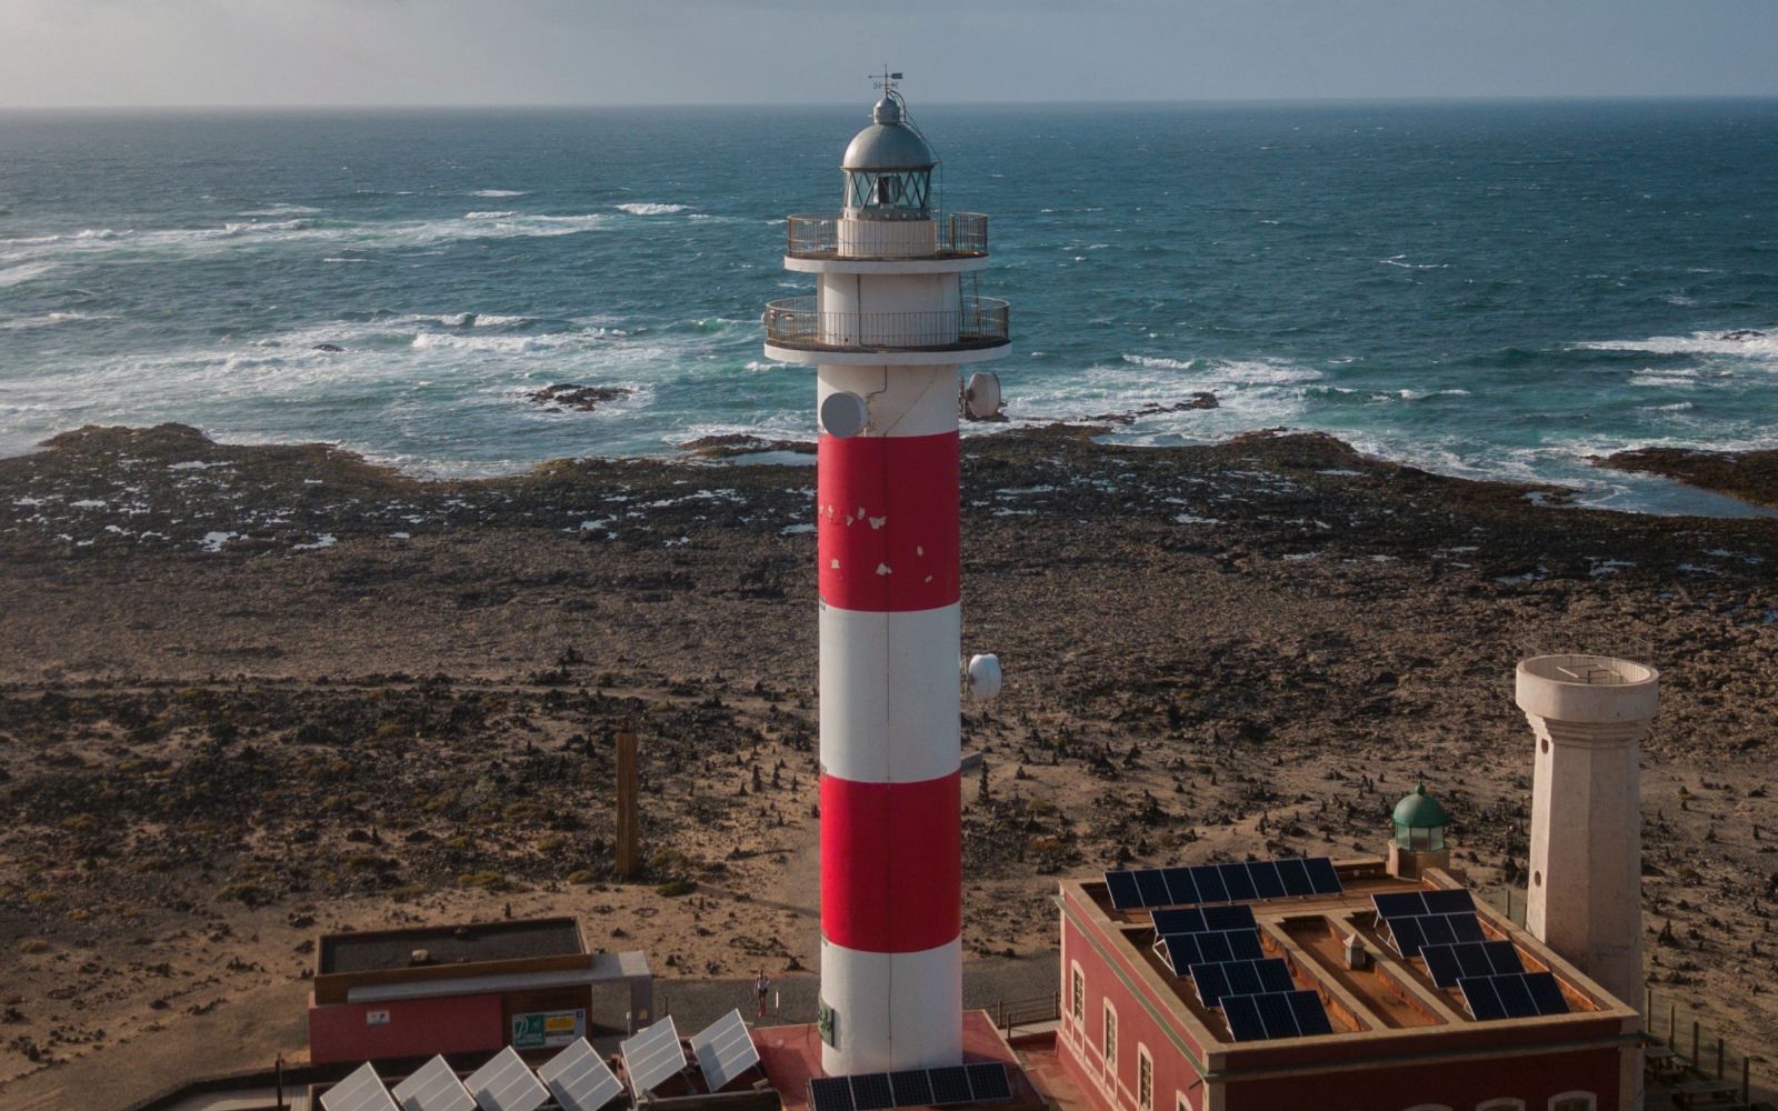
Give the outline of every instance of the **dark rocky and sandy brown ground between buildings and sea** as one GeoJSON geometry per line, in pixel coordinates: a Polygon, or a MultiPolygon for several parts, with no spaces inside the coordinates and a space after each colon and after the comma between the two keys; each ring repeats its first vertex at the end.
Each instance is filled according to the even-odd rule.
{"type": "MultiPolygon", "coordinates": [[[[813,969],[813,482],[423,484],[178,427],[0,460],[0,1107],[297,1054],[322,930],[569,912],[669,978],[813,969]]],[[[1037,969],[999,990],[1049,990],[1056,876],[1374,855],[1419,779],[1472,880],[1522,883],[1511,667],[1588,649],[1664,672],[1650,978],[1778,1045],[1778,523],[1563,508],[1310,436],[976,437],[964,487],[965,651],[1008,670],[964,723],[965,953],[1037,969]]]]}

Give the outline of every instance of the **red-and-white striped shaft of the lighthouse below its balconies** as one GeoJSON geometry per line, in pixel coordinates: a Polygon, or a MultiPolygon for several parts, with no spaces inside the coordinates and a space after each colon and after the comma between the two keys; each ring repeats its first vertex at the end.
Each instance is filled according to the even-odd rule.
{"type": "Polygon", "coordinates": [[[821,997],[830,1075],[962,1059],[955,366],[821,366],[821,997]]]}

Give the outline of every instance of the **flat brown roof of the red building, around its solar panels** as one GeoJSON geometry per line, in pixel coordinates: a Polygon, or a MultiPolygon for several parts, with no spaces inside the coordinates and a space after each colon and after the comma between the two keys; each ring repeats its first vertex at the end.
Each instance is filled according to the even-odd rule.
{"type": "Polygon", "coordinates": [[[1378,894],[1462,891],[1462,885],[1438,869],[1430,869],[1424,880],[1401,880],[1390,876],[1385,862],[1376,859],[1335,862],[1335,873],[1344,889],[1339,894],[1236,903],[1252,908],[1262,956],[1284,960],[1293,987],[1316,992],[1326,1008],[1332,1033],[1294,1038],[1237,1040],[1223,1010],[1205,1006],[1188,969],[1175,972],[1165,947],[1156,946],[1152,915],[1159,908],[1120,910],[1113,907],[1106,883],[1099,878],[1065,880],[1061,903],[1065,915],[1076,917],[1090,935],[1109,942],[1111,953],[1104,956],[1115,956],[1118,965],[1127,967],[1140,988],[1145,988],[1143,994],[1159,1003],[1207,1054],[1264,1056],[1280,1045],[1326,1045],[1350,1054],[1351,1043],[1358,1040],[1422,1040],[1456,1031],[1495,1040],[1501,1035],[1552,1036],[1558,1031],[1563,1038],[1586,1036],[1593,1033],[1586,1027],[1593,1026],[1600,1027],[1600,1036],[1634,1029],[1632,1008],[1479,901],[1476,919],[1485,940],[1510,942],[1526,972],[1554,974],[1568,1013],[1476,1019],[1462,988],[1437,985],[1424,958],[1405,958],[1398,951],[1389,926],[1378,921],[1373,905],[1373,896],[1378,894]],[[1358,969],[1348,967],[1346,960],[1346,940],[1353,935],[1367,955],[1358,969]]]}

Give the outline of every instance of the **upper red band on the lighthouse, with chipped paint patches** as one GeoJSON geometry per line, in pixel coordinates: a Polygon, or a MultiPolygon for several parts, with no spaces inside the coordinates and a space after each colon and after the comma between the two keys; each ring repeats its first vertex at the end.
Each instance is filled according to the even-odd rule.
{"type": "Polygon", "coordinates": [[[958,439],[823,436],[816,468],[821,601],[900,613],[958,599],[958,439]]]}

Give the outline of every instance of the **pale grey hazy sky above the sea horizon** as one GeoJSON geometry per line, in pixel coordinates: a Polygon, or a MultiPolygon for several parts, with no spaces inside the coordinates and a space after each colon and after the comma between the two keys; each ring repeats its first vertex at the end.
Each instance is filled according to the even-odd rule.
{"type": "Polygon", "coordinates": [[[1778,0],[0,0],[0,107],[1778,96],[1778,0]]]}

